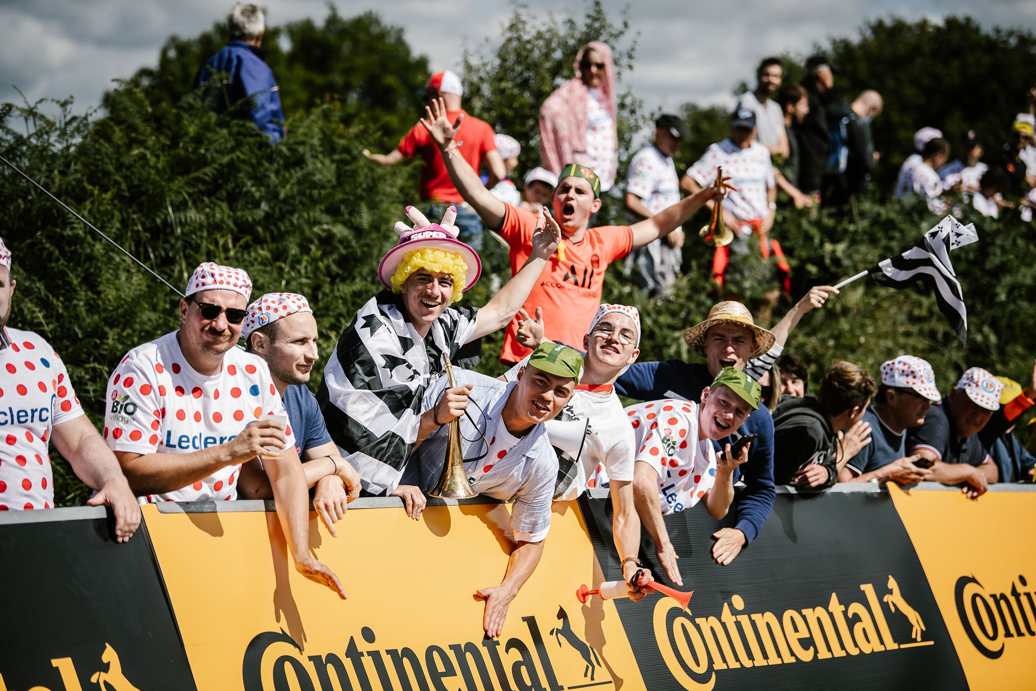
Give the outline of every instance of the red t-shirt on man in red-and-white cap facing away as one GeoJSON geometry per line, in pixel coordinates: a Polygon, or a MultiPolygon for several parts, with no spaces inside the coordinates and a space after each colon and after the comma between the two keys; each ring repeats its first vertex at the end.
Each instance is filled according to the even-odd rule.
{"type": "MultiPolygon", "coordinates": [[[[464,111],[447,111],[450,121],[456,121],[457,116],[464,111]]],[[[482,168],[482,160],[489,151],[496,150],[496,142],[493,139],[493,128],[489,123],[471,117],[464,113],[460,128],[454,141],[457,142],[458,151],[476,172],[482,168]]],[[[425,125],[420,122],[406,133],[397,147],[407,159],[421,154],[424,165],[421,167],[420,193],[422,201],[434,199],[440,202],[462,202],[464,198],[457,192],[450,173],[442,163],[438,147],[432,143],[432,138],[425,129],[425,125]]]]}

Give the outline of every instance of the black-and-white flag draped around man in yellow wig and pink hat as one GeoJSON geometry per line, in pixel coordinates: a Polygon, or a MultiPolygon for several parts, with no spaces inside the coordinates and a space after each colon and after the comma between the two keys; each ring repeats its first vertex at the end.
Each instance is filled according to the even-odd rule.
{"type": "Polygon", "coordinates": [[[425,390],[474,333],[477,308],[450,307],[422,339],[399,295],[356,312],[324,368],[317,402],[327,432],[372,494],[394,489],[418,439],[425,390]]]}

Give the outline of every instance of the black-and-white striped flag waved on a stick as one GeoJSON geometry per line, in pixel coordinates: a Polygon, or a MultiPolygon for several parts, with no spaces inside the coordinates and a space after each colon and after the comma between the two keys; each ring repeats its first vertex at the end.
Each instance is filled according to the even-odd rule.
{"type": "Polygon", "coordinates": [[[978,241],[974,224],[961,225],[947,215],[929,230],[915,247],[871,267],[868,273],[883,286],[906,288],[920,281],[936,293],[939,309],[956,332],[961,343],[968,342],[968,310],[950,251],[978,241]]]}

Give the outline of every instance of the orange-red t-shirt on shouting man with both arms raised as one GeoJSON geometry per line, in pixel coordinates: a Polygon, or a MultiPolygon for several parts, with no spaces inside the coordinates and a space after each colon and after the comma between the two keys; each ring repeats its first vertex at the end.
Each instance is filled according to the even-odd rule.
{"type": "MultiPolygon", "coordinates": [[[[511,276],[518,272],[533,254],[533,231],[537,217],[525,209],[505,204],[500,235],[511,246],[511,276]]],[[[528,299],[525,311],[531,316],[536,308],[543,310],[544,336],[551,341],[582,349],[582,337],[601,307],[604,269],[622,259],[633,249],[633,231],[629,226],[589,228],[578,242],[563,238],[565,261],[560,249],[550,257],[528,299]]],[[[515,340],[518,322],[512,319],[503,337],[500,359],[517,363],[533,352],[515,340]]]]}

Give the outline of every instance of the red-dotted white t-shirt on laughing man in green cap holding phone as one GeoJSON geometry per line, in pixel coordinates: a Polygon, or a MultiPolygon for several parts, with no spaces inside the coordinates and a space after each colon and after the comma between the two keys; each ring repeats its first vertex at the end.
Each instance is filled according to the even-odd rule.
{"type": "MultiPolygon", "coordinates": [[[[663,399],[631,405],[636,461],[658,472],[662,515],[690,509],[716,484],[716,451],[711,439],[698,439],[698,404],[663,399]]],[[[608,481],[604,472],[599,483],[608,481]]]]}

